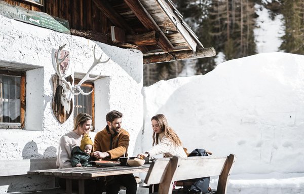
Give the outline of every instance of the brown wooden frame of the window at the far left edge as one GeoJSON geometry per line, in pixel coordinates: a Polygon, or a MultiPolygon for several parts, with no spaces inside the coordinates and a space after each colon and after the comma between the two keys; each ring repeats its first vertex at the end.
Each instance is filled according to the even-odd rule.
{"type": "Polygon", "coordinates": [[[0,69],[0,74],[20,76],[20,123],[0,123],[0,129],[23,129],[25,125],[25,85],[26,76],[24,71],[13,69],[0,69]]]}

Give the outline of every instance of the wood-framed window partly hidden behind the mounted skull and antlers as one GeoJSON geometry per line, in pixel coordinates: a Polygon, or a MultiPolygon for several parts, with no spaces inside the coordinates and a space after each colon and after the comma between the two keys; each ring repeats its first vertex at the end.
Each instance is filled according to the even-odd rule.
{"type": "MultiPolygon", "coordinates": [[[[80,80],[75,80],[75,84],[78,84],[79,81],[80,80]]],[[[83,91],[86,93],[93,90],[93,88],[94,88],[93,83],[84,83],[81,85],[81,89],[83,89],[83,91]]],[[[82,94],[74,96],[74,118],[80,112],[86,112],[92,116],[93,118],[92,124],[94,129],[94,90],[91,94],[87,96],[84,96],[82,94]]]]}

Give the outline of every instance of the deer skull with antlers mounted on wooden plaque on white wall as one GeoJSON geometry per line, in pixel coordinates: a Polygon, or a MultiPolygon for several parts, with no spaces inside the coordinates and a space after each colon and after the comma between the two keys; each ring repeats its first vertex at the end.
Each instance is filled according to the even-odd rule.
{"type": "MultiPolygon", "coordinates": [[[[65,44],[66,45],[66,44],[65,44]]],[[[54,70],[56,73],[53,75],[53,85],[54,85],[54,96],[53,96],[53,111],[58,119],[58,121],[62,124],[64,123],[68,118],[69,115],[72,112],[73,109],[73,97],[77,96],[79,94],[82,95],[89,95],[93,92],[93,89],[90,92],[84,92],[81,89],[81,85],[86,81],[95,81],[97,80],[101,73],[99,75],[90,77],[90,72],[92,69],[99,63],[106,63],[109,61],[109,58],[105,61],[100,61],[101,56],[96,59],[95,57],[95,46],[93,49],[94,54],[94,62],[89,68],[86,75],[83,77],[83,79],[77,84],[74,85],[74,80],[71,76],[70,72],[70,66],[68,64],[65,65],[66,69],[64,69],[62,63],[67,59],[68,54],[65,54],[62,52],[62,49],[64,48],[59,46],[57,54],[54,49],[52,49],[52,63],[54,70]]]]}

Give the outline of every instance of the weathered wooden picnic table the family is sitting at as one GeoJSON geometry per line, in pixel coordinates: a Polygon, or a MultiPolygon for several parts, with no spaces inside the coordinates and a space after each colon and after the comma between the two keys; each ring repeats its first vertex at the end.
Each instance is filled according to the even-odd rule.
{"type": "Polygon", "coordinates": [[[85,179],[93,179],[103,176],[120,175],[148,172],[150,164],[144,164],[140,167],[131,166],[93,166],[93,167],[75,167],[75,168],[61,168],[61,169],[47,169],[28,171],[28,175],[45,175],[55,176],[66,179],[66,193],[72,193],[72,179],[78,179],[79,194],[85,193],[85,179]]]}

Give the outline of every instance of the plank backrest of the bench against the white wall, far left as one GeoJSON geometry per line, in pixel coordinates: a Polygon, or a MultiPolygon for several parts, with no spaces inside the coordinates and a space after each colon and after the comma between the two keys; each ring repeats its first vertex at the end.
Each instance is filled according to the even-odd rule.
{"type": "Polygon", "coordinates": [[[27,175],[30,170],[54,169],[56,167],[56,158],[48,159],[26,159],[26,160],[1,160],[0,177],[27,175]]]}

